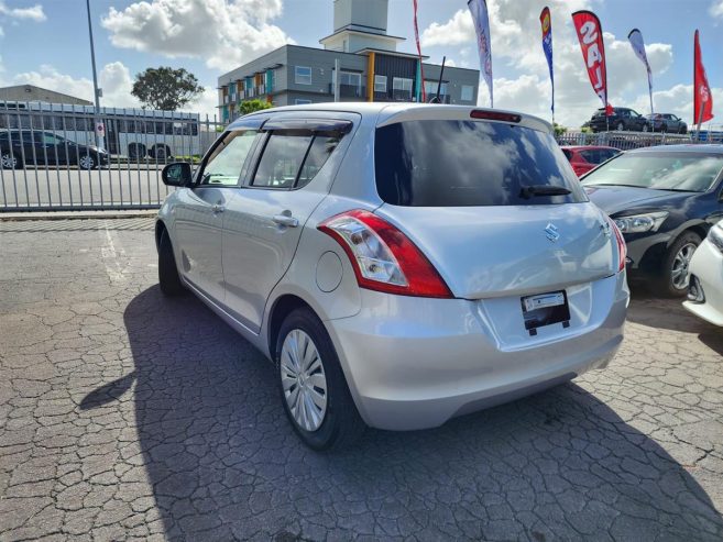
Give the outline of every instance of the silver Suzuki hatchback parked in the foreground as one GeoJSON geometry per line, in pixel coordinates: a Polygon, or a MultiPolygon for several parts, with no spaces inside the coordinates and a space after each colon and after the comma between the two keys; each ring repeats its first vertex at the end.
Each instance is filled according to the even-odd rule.
{"type": "Polygon", "coordinates": [[[274,362],[315,450],[570,380],[623,340],[622,235],[539,119],[277,108],[163,178],[162,290],[191,290],[274,362]]]}

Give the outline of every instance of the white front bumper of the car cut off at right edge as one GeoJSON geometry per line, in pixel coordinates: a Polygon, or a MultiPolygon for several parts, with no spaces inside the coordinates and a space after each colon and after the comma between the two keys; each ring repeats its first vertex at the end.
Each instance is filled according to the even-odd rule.
{"type": "Polygon", "coordinates": [[[714,325],[723,325],[723,254],[704,241],[693,254],[689,269],[698,277],[705,300],[683,301],[683,307],[714,325]]]}

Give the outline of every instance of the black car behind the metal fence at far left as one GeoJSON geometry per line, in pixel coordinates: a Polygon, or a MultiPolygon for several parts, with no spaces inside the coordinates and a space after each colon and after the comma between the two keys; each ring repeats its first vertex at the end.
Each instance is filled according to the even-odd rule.
{"type": "Polygon", "coordinates": [[[22,168],[25,164],[92,169],[107,165],[110,156],[95,145],[81,145],[53,132],[7,130],[0,132],[0,168],[22,168]]]}

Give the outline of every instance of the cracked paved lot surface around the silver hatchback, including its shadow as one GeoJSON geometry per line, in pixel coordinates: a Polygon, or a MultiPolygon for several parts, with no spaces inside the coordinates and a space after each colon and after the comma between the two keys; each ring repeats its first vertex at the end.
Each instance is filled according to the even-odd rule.
{"type": "Polygon", "coordinates": [[[678,301],[634,292],[605,370],[317,454],[152,224],[0,222],[0,540],[723,539],[723,333],[678,301]]]}

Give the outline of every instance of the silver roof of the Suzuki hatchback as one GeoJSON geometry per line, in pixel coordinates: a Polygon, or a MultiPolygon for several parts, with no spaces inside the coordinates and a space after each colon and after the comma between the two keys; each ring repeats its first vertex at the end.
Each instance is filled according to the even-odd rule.
{"type": "MultiPolygon", "coordinates": [[[[491,113],[511,113],[521,117],[519,124],[526,128],[543,132],[552,132],[552,125],[537,117],[521,113],[517,111],[506,111],[501,109],[486,109],[472,106],[441,106],[432,103],[415,103],[415,102],[324,102],[324,103],[309,103],[304,106],[284,106],[273,109],[265,109],[255,113],[248,114],[241,119],[249,119],[254,115],[267,115],[280,113],[300,113],[300,112],[343,112],[343,113],[358,113],[366,118],[375,118],[377,126],[388,124],[392,122],[412,121],[412,120],[471,120],[470,113],[472,111],[488,111],[491,113]]],[[[235,128],[234,124],[241,123],[241,119],[237,120],[229,128],[235,128]]],[[[489,121],[497,122],[497,121],[489,121]]]]}

